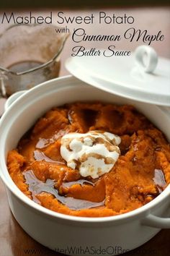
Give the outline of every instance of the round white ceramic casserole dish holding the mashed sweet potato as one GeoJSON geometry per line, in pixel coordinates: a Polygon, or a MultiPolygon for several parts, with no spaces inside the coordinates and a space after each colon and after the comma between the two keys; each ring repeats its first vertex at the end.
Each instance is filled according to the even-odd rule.
{"type": "Polygon", "coordinates": [[[44,82],[19,96],[1,118],[0,176],[5,184],[14,218],[37,242],[56,251],[63,249],[60,252],[67,255],[79,255],[76,249],[74,252],[69,252],[71,247],[81,247],[81,249],[88,247],[89,252],[87,249],[86,253],[83,253],[84,256],[117,255],[125,250],[139,247],[160,229],[170,228],[170,218],[166,218],[170,216],[170,185],[156,199],[130,213],[104,218],[84,218],[55,213],[37,205],[17,188],[9,176],[6,168],[8,151],[16,148],[22,135],[48,109],[73,101],[133,104],[170,140],[168,108],[121,98],[92,88],[72,76],[44,82]]]}

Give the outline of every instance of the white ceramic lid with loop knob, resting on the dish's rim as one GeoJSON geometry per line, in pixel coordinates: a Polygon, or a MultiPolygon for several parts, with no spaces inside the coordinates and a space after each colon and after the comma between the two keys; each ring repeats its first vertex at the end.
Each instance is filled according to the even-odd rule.
{"type": "Polygon", "coordinates": [[[109,93],[170,106],[170,60],[158,58],[150,46],[139,46],[131,56],[71,57],[66,69],[109,93]]]}

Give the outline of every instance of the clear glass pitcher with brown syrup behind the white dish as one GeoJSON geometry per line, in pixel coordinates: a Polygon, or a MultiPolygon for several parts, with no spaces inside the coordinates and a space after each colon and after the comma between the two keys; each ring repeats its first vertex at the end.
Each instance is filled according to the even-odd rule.
{"type": "Polygon", "coordinates": [[[68,34],[54,25],[12,25],[0,35],[0,95],[8,97],[58,77],[68,34]]]}

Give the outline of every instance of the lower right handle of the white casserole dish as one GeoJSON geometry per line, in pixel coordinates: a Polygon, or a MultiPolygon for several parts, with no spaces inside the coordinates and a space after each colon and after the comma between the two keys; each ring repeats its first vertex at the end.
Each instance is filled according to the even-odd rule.
{"type": "Polygon", "coordinates": [[[170,218],[162,218],[149,214],[141,221],[144,226],[151,226],[157,229],[170,229],[170,218]]]}

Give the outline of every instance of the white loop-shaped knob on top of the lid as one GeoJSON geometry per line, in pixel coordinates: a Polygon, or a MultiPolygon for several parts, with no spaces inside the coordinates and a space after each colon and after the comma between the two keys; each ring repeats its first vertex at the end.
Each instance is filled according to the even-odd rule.
{"type": "Polygon", "coordinates": [[[135,62],[146,73],[152,73],[158,64],[158,55],[151,46],[138,46],[135,50],[135,62]]]}

